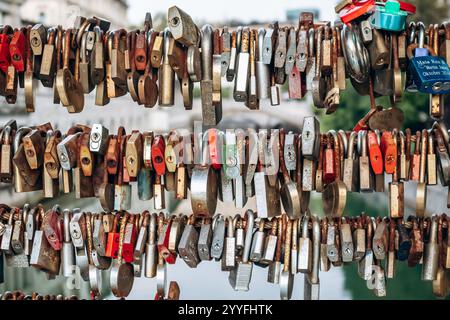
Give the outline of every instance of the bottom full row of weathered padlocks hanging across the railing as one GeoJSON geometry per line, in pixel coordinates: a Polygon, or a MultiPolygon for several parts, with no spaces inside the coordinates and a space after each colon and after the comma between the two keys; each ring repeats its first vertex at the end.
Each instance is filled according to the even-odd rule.
{"type": "MultiPolygon", "coordinates": [[[[215,215],[198,218],[163,213],[90,213],[64,211],[58,205],[9,208],[2,205],[0,249],[9,265],[30,265],[73,277],[74,270],[89,281],[91,295],[99,298],[102,271],[116,297],[126,297],[135,277],[157,280],[155,299],[178,299],[171,282],[167,293],[167,264],[177,257],[190,268],[202,261],[221,262],[236,291],[248,291],[253,266],[268,267],[267,281],[278,284],[280,298],[290,299],[294,276],[305,275],[304,298],[319,299],[319,270],[331,265],[358,264],[359,276],[378,297],[386,295],[386,278],[395,276],[397,261],[409,267],[422,264],[422,280],[431,281],[433,293],[450,293],[450,218],[370,218],[365,214],[323,218],[307,212],[301,218],[286,214],[259,218],[252,210],[244,217],[215,215]]],[[[75,272],[76,274],[76,272],[75,272]]]]}

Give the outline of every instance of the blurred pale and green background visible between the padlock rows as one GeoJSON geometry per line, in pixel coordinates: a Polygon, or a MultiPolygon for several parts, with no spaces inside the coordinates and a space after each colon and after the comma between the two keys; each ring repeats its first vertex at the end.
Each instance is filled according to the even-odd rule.
{"type": "MultiPolygon", "coordinates": [[[[144,0],[11,0],[0,1],[0,24],[13,26],[28,23],[43,23],[48,26],[58,24],[71,27],[77,15],[101,16],[112,22],[112,28],[141,27],[146,12],[151,12],[155,29],[162,30],[166,23],[167,9],[177,5],[188,12],[198,25],[211,23],[214,26],[237,26],[240,24],[267,24],[271,21],[298,23],[301,11],[313,11],[316,19],[336,19],[334,5],[337,1],[144,1],[144,0]]],[[[444,0],[412,0],[417,5],[418,13],[414,19],[424,23],[439,23],[444,21],[450,11],[444,0]]],[[[231,86],[223,81],[224,117],[221,128],[275,128],[299,130],[303,117],[316,114],[321,120],[322,131],[334,128],[349,130],[369,109],[369,100],[358,96],[351,86],[341,94],[341,106],[332,116],[324,116],[312,106],[310,95],[302,101],[287,101],[287,92],[282,90],[282,104],[271,107],[267,102],[261,104],[261,110],[249,111],[243,104],[230,99],[231,86]]],[[[178,91],[176,91],[178,92],[178,91]]],[[[37,104],[34,114],[26,114],[22,92],[16,105],[7,105],[0,101],[0,122],[5,123],[11,118],[17,119],[20,125],[40,124],[51,121],[54,127],[65,131],[75,123],[92,124],[96,122],[106,125],[110,132],[117,130],[119,125],[125,128],[139,130],[167,131],[171,128],[192,128],[194,120],[201,119],[199,88],[196,87],[196,99],[192,111],[184,111],[181,96],[176,96],[175,106],[170,108],[155,107],[144,109],[135,105],[129,96],[115,99],[105,107],[94,105],[93,96],[86,97],[85,110],[81,114],[68,115],[65,108],[52,105],[51,90],[39,87],[36,92],[37,104]]],[[[388,102],[380,99],[378,104],[388,106],[388,102]]],[[[428,96],[405,94],[399,105],[405,113],[405,127],[413,132],[423,127],[429,128],[428,96]]],[[[448,113],[447,113],[448,114],[448,113]]],[[[447,122],[448,123],[448,122],[447,122]]],[[[387,177],[388,183],[390,177],[387,177]]],[[[136,189],[136,188],[135,188],[136,189]]],[[[386,188],[387,189],[387,188],[386,188]]],[[[430,187],[428,197],[428,212],[442,213],[446,208],[447,191],[442,188],[430,187]]],[[[0,202],[21,205],[25,201],[31,204],[43,203],[50,207],[55,203],[65,207],[80,207],[83,210],[101,210],[96,199],[74,199],[73,195],[61,196],[57,199],[43,199],[41,192],[29,194],[13,194],[7,185],[0,185],[0,202]]],[[[190,202],[173,200],[171,194],[166,195],[167,212],[189,213],[190,202]]],[[[311,211],[322,215],[320,195],[314,194],[311,201],[311,211]]],[[[415,185],[408,183],[406,188],[406,215],[414,212],[415,185]]],[[[247,207],[255,208],[254,199],[250,199],[247,207]]],[[[137,199],[136,190],[133,195],[133,212],[152,209],[152,201],[142,202],[137,199]]],[[[358,215],[366,212],[372,216],[387,215],[387,193],[382,194],[350,194],[345,214],[358,215]]],[[[220,203],[218,212],[238,213],[239,211],[220,203]]],[[[235,292],[228,284],[228,273],[220,271],[217,262],[201,263],[197,269],[189,269],[183,261],[168,266],[169,280],[177,280],[183,299],[278,299],[277,285],[267,283],[267,269],[254,268],[251,290],[246,293],[235,292]]],[[[404,263],[397,264],[397,276],[387,281],[386,299],[433,299],[431,283],[420,280],[421,266],[408,268],[404,263]]],[[[109,293],[109,273],[104,272],[104,298],[113,298],[109,293]]],[[[373,293],[366,288],[366,283],[357,276],[355,264],[332,268],[329,272],[320,273],[322,299],[375,299],[373,293]]],[[[69,290],[65,279],[57,277],[48,281],[46,276],[33,270],[12,270],[5,268],[5,282],[0,291],[22,289],[27,293],[63,293],[77,294],[83,298],[89,297],[89,288],[82,283],[79,290],[69,290]]],[[[156,292],[156,282],[153,279],[138,278],[135,280],[129,299],[152,299],[156,292]]],[[[295,278],[293,299],[303,298],[303,275],[295,278]]]]}

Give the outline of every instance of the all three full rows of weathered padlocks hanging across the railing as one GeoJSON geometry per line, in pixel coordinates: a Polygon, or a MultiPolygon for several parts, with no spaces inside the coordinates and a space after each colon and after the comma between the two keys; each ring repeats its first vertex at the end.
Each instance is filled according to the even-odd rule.
{"type": "MultiPolygon", "coordinates": [[[[142,30],[109,31],[104,19],[78,17],[75,26],[38,24],[0,34],[0,94],[15,103],[25,89],[34,111],[34,80],[54,88],[54,102],[81,112],[84,95],[95,104],[130,93],[139,105],[174,105],[175,79],[183,104],[192,109],[200,82],[203,125],[194,133],[116,134],[101,124],[75,125],[63,133],[50,123],[0,132],[0,181],[17,193],[43,191],[45,198],[75,191],[97,197],[105,212],[46,211],[42,205],[0,206],[0,250],[8,265],[43,270],[49,278],[79,274],[92,298],[109,270],[112,293],[129,295],[135,277],[157,279],[155,299],[178,299],[177,282],[167,286],[167,264],[180,257],[189,267],[221,261],[237,291],[249,290],[253,266],[268,267],[267,280],[290,299],[293,279],[305,275],[305,299],[319,299],[319,270],[356,262],[376,296],[386,295],[397,261],[422,264],[433,293],[450,292],[450,236],[447,216],[425,217],[428,185],[450,185],[449,131],[442,122],[429,130],[401,131],[397,108],[403,92],[430,94],[430,115],[442,119],[450,93],[450,24],[411,22],[414,6],[402,1],[344,0],[341,23],[300,14],[298,27],[274,22],[268,28],[201,29],[178,7],[168,10],[168,28],[153,29],[150,14],[142,30]],[[406,74],[403,77],[403,73],[406,74]],[[300,132],[284,129],[220,131],[222,77],[234,82],[233,98],[249,109],[262,100],[280,104],[279,86],[289,98],[312,92],[314,105],[330,114],[349,78],[370,111],[351,132],[320,132],[306,117],[300,132]],[[406,80],[403,81],[403,78],[406,80]],[[390,96],[391,106],[375,98],[390,96]],[[384,192],[389,217],[343,217],[348,192],[384,192]],[[404,219],[404,182],[417,183],[415,215],[404,219]],[[131,214],[132,185],[140,200],[165,209],[166,191],[191,201],[191,215],[131,214]],[[310,213],[311,192],[322,194],[325,218],[310,213]],[[245,216],[216,214],[218,201],[244,208],[245,216]]],[[[450,192],[447,199],[450,207],[450,192]]],[[[1,260],[3,262],[3,259],[1,260]]],[[[3,265],[2,265],[3,266],[3,265]]],[[[2,299],[28,299],[20,292],[2,299]]],[[[31,299],[62,297],[33,295],[31,299]]]]}

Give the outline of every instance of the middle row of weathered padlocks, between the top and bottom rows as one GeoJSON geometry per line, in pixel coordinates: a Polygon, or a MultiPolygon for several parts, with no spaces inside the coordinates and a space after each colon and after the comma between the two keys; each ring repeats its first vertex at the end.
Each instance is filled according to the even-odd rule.
{"type": "MultiPolygon", "coordinates": [[[[412,134],[397,130],[321,133],[305,117],[300,133],[284,129],[208,129],[191,134],[132,131],[109,134],[101,124],[77,125],[66,134],[47,123],[1,131],[0,179],[16,192],[43,190],[46,198],[75,190],[97,197],[104,210],[130,210],[132,185],[140,200],[165,209],[165,190],[188,199],[196,216],[212,216],[217,203],[244,208],[256,198],[258,217],[291,218],[308,209],[310,193],[322,193],[324,211],[342,216],[348,192],[384,192],[389,213],[404,215],[404,181],[417,184],[415,213],[425,214],[428,185],[450,183],[449,133],[444,123],[412,134]],[[13,143],[12,143],[13,141],[13,143]],[[190,191],[190,192],[188,192],[190,191]]],[[[447,201],[448,202],[448,201],[447,201]]],[[[447,204],[449,205],[449,204],[447,204]]]]}

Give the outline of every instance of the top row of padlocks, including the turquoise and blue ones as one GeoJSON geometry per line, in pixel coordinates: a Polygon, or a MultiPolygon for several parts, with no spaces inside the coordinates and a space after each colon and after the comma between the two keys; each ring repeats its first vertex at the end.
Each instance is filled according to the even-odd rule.
{"type": "Polygon", "coordinates": [[[126,93],[145,107],[173,106],[178,78],[186,109],[192,109],[194,83],[200,82],[204,124],[216,125],[222,77],[234,81],[234,100],[249,109],[266,99],[279,105],[279,86],[287,82],[290,99],[311,91],[314,104],[327,113],[338,108],[350,78],[362,95],[392,97],[392,108],[376,113],[381,120],[394,118],[391,128],[401,127],[403,114],[395,103],[405,89],[431,94],[430,113],[441,118],[442,94],[450,92],[449,25],[406,26],[415,8],[393,0],[345,0],[336,11],[343,23],[315,22],[312,13],[302,13],[298,27],[274,22],[258,30],[208,24],[200,29],[175,6],[163,32],[153,29],[150,14],[142,30],[132,31],[110,31],[110,23],[96,17],[78,17],[67,30],[3,26],[0,93],[15,103],[17,86],[24,87],[27,110],[34,111],[38,79],[54,88],[54,102],[71,113],[83,110],[84,95],[94,89],[100,106],[126,93]]]}

